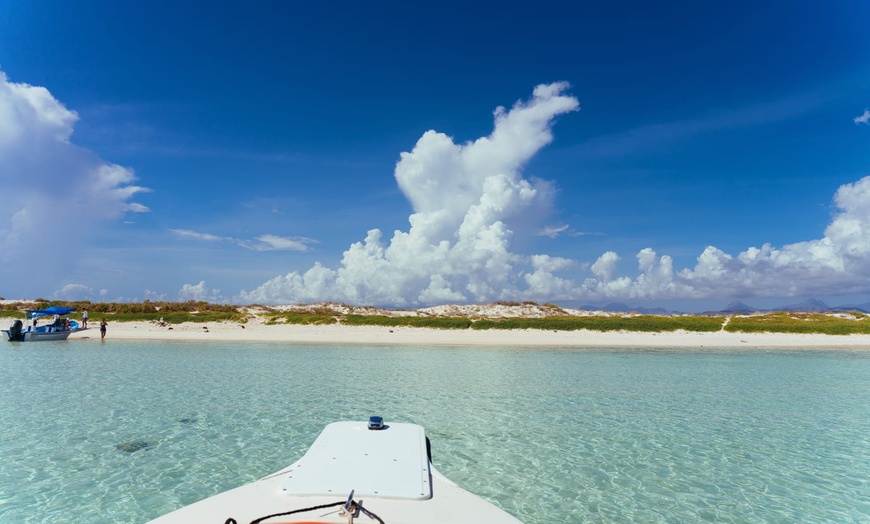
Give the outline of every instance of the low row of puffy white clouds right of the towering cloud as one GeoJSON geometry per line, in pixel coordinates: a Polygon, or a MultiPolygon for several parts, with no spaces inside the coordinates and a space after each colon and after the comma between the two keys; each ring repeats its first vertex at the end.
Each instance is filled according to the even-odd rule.
{"type": "Polygon", "coordinates": [[[587,299],[784,297],[870,292],[870,177],[841,186],[839,210],[816,240],[781,248],[764,244],[731,255],[708,246],[693,268],[675,271],[668,255],[637,254],[638,275],[615,277],[615,253],[592,265],[577,289],[587,299]]]}

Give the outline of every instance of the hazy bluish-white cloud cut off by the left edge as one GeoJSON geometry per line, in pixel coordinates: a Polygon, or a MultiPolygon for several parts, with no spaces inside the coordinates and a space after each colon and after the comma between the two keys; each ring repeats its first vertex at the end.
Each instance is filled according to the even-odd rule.
{"type": "Polygon", "coordinates": [[[0,269],[50,282],[96,225],[147,208],[133,173],[70,143],[78,120],[44,87],[0,71],[0,269]],[[39,239],[39,240],[37,240],[39,239]]]}

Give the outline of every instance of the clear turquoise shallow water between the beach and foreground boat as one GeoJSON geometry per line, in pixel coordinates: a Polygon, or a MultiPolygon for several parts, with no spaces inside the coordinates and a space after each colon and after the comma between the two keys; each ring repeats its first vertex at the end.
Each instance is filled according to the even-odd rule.
{"type": "Polygon", "coordinates": [[[141,523],[415,422],[528,524],[870,522],[870,352],[0,345],[0,522],[141,523]]]}

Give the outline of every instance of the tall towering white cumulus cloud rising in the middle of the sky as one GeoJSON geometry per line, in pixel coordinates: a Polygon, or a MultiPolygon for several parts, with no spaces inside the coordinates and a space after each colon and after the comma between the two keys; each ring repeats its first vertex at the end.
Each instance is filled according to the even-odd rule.
{"type": "MultiPolygon", "coordinates": [[[[529,159],[553,140],[558,115],[579,109],[568,85],[537,86],[531,99],[496,108],[489,136],[457,144],[427,131],[396,165],[414,213],[389,242],[378,229],[344,253],[341,267],[320,264],[242,292],[246,302],[337,300],[410,305],[515,296],[543,278],[530,257],[511,250],[517,230],[540,219],[551,184],[523,177],[529,159]],[[526,280],[533,272],[537,278],[526,280]]],[[[530,234],[534,230],[530,230],[530,234]]]]}

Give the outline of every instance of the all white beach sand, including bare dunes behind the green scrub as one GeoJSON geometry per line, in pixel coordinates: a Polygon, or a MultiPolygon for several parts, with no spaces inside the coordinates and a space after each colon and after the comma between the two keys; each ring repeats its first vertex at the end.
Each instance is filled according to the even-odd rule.
{"type": "MultiPolygon", "coordinates": [[[[0,301],[21,303],[24,300],[0,301]]],[[[552,306],[475,304],[443,305],[418,310],[391,310],[376,307],[351,307],[341,304],[276,306],[284,311],[312,311],[328,308],[337,313],[385,316],[469,316],[476,318],[535,318],[552,314],[552,306]]],[[[870,349],[870,335],[821,335],[788,333],[712,333],[673,331],[646,333],[634,331],[547,331],[539,329],[427,329],[416,327],[267,324],[264,311],[242,307],[248,321],[185,322],[160,325],[157,322],[112,322],[107,318],[107,340],[192,340],[246,341],[329,344],[400,344],[419,346],[493,346],[493,347],[583,347],[583,348],[796,348],[796,349],[870,349]]],[[[560,309],[574,316],[613,316],[623,313],[560,309]]],[[[70,335],[70,340],[100,340],[102,317],[91,315],[88,329],[70,335]]]]}

